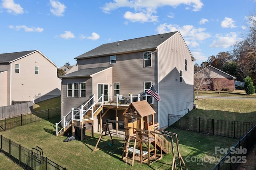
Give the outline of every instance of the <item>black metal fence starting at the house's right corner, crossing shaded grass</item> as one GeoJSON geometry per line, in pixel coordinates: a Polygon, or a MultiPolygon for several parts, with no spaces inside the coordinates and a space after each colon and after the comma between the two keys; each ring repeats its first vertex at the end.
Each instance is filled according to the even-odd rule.
{"type": "Polygon", "coordinates": [[[168,114],[168,127],[234,138],[242,138],[255,124],[168,114]]]}

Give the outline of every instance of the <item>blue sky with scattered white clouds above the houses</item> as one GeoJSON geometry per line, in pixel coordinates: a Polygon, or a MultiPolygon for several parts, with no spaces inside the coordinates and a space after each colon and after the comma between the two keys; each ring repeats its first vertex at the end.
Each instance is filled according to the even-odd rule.
{"type": "Polygon", "coordinates": [[[41,51],[56,65],[99,45],[180,31],[199,65],[246,35],[255,0],[1,0],[0,53],[41,51]]]}

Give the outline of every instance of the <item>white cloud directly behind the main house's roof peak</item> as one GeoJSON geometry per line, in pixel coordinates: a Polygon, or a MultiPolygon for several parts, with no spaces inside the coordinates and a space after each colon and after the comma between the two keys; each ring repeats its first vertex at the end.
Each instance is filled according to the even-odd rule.
{"type": "Polygon", "coordinates": [[[205,28],[195,28],[192,25],[180,27],[173,24],[161,24],[157,27],[158,34],[180,31],[180,34],[184,38],[186,44],[191,45],[190,47],[196,47],[199,45],[198,41],[211,37],[209,33],[205,32],[205,30],[205,28]]]}

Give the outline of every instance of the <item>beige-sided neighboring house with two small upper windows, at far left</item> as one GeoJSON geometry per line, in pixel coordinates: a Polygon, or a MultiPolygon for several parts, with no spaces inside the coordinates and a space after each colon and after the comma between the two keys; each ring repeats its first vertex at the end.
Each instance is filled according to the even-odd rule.
{"type": "Polygon", "coordinates": [[[39,50],[0,54],[0,106],[60,96],[57,68],[39,50]]]}

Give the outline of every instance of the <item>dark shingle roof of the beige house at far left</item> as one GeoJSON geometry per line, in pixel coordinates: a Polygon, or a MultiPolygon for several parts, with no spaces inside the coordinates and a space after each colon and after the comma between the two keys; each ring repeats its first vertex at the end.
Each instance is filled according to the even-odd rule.
{"type": "Polygon", "coordinates": [[[37,50],[0,54],[0,63],[8,63],[10,61],[14,61],[14,60],[19,59],[20,57],[24,57],[25,55],[28,55],[34,51],[37,51],[37,50]]]}

